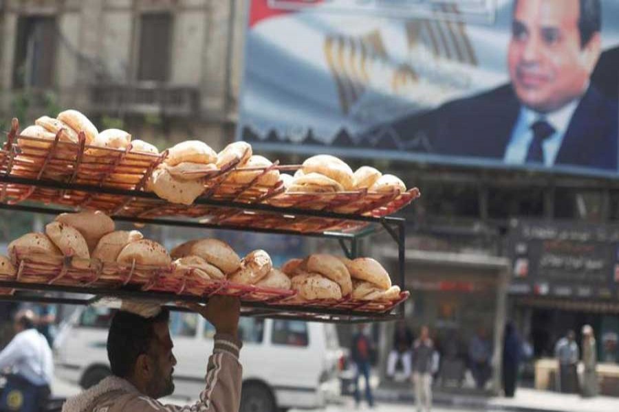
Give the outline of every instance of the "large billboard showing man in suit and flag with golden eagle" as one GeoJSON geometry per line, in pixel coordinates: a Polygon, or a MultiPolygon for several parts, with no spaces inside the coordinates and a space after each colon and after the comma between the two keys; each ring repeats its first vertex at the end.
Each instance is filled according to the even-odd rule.
{"type": "Polygon", "coordinates": [[[237,139],[616,176],[619,2],[251,0],[237,139]]]}

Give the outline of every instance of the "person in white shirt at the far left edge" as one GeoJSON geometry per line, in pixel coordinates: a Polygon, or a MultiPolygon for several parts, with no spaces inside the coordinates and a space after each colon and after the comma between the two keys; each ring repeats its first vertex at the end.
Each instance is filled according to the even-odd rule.
{"type": "Polygon", "coordinates": [[[36,330],[32,310],[17,312],[14,328],[14,338],[0,352],[0,371],[7,374],[0,411],[39,411],[51,393],[52,350],[45,336],[36,330]]]}

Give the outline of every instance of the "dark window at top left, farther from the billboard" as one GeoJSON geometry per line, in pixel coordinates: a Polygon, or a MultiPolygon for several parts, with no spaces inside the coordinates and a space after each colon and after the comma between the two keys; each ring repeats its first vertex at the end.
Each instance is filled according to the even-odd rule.
{"type": "Polygon", "coordinates": [[[13,87],[45,89],[54,82],[56,21],[53,17],[20,17],[13,66],[13,87]]]}

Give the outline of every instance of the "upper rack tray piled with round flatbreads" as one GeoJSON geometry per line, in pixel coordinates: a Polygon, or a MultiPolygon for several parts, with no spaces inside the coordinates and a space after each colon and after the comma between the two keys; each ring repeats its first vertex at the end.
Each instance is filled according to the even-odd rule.
{"type": "Polygon", "coordinates": [[[23,130],[13,119],[0,150],[0,181],[0,202],[12,205],[34,201],[111,216],[183,216],[305,232],[360,229],[367,222],[355,217],[387,216],[420,196],[397,176],[369,166],[353,172],[331,155],[281,165],[244,141],[216,151],[197,139],[160,151],[124,130],[98,131],[75,110],[40,117],[23,130]]]}

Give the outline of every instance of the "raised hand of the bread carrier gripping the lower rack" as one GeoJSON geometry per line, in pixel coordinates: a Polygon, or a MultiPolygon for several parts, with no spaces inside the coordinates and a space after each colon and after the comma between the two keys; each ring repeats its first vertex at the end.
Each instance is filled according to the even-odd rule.
{"type": "Polygon", "coordinates": [[[239,332],[239,314],[241,301],[238,297],[215,295],[208,299],[208,304],[188,304],[188,308],[199,313],[209,321],[217,333],[237,337],[239,332]]]}

